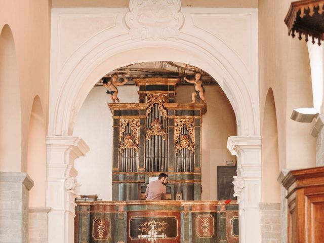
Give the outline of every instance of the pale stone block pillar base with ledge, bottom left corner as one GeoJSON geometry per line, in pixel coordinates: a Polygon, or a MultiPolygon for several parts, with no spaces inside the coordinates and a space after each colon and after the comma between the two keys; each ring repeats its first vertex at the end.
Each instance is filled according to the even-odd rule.
{"type": "Polygon", "coordinates": [[[28,242],[28,191],[33,185],[26,173],[0,172],[0,242],[28,242]]]}

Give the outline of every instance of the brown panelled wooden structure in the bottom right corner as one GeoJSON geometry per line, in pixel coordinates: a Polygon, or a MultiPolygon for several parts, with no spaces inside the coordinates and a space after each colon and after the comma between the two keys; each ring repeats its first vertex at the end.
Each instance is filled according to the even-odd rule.
{"type": "Polygon", "coordinates": [[[324,167],[291,171],[282,185],[288,190],[288,242],[323,242],[324,167]]]}

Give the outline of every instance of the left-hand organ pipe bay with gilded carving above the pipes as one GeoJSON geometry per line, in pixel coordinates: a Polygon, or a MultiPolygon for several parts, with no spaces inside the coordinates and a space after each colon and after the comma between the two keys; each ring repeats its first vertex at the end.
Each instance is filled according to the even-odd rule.
{"type": "Polygon", "coordinates": [[[137,172],[139,119],[119,120],[119,172],[137,172]]]}

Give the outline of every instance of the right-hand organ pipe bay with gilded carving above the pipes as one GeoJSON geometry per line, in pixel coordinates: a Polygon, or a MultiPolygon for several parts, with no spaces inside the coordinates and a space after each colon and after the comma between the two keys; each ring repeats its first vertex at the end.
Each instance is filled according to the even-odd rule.
{"type": "Polygon", "coordinates": [[[175,171],[194,170],[194,120],[193,118],[175,119],[174,147],[175,171]]]}

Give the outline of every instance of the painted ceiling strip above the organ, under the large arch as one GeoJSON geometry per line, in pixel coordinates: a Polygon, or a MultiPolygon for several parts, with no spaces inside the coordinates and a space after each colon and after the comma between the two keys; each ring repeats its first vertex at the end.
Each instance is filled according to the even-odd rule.
{"type": "MultiPolygon", "coordinates": [[[[204,85],[218,85],[216,80],[209,75],[204,70],[197,68],[195,66],[180,63],[180,62],[141,62],[135,63],[131,65],[127,65],[124,67],[117,68],[109,73],[107,73],[103,78],[107,78],[108,80],[111,78],[111,74],[113,73],[118,74],[118,79],[120,82],[123,82],[123,77],[127,77],[129,82],[125,85],[134,86],[134,79],[135,78],[147,78],[147,77],[180,77],[181,83],[179,85],[191,85],[185,82],[184,77],[189,79],[194,78],[194,74],[196,72],[201,73],[201,80],[203,81],[204,85]]],[[[103,80],[102,78],[96,83],[95,86],[102,86],[103,80]]]]}

